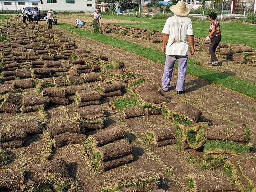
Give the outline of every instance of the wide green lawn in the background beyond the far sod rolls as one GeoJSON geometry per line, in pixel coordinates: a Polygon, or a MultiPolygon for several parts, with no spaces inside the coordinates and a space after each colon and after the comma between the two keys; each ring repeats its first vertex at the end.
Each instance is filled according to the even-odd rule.
{"type": "MultiPolygon", "coordinates": [[[[88,15],[84,15],[88,16],[88,15]]],[[[115,25],[121,25],[125,27],[138,27],[145,28],[148,30],[157,29],[162,31],[166,19],[149,19],[147,17],[128,17],[128,16],[108,16],[103,15],[102,18],[115,18],[122,20],[132,20],[132,21],[143,21],[147,23],[113,23],[115,25]]],[[[200,38],[205,38],[209,32],[208,28],[210,25],[209,21],[192,21],[193,31],[195,36],[200,38]]],[[[240,23],[220,23],[220,29],[222,33],[222,42],[225,43],[240,43],[247,44],[256,48],[255,39],[255,26],[246,25],[240,23]]]]}

